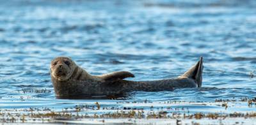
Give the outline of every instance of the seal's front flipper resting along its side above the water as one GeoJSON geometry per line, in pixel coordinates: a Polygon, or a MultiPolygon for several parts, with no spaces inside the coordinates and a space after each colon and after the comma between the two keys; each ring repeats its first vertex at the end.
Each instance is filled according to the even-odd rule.
{"type": "Polygon", "coordinates": [[[112,80],[122,80],[128,77],[134,77],[129,71],[115,71],[113,73],[108,73],[100,76],[102,80],[112,81],[112,80]]]}

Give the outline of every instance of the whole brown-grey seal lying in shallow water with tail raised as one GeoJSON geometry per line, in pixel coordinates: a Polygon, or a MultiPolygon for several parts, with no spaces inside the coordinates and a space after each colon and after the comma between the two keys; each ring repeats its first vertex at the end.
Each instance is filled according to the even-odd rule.
{"type": "Polygon", "coordinates": [[[51,80],[56,98],[79,99],[92,96],[116,96],[132,91],[173,91],[175,88],[201,87],[203,57],[177,78],[152,81],[124,80],[134,77],[129,71],[91,75],[69,57],[51,62],[51,80]]]}

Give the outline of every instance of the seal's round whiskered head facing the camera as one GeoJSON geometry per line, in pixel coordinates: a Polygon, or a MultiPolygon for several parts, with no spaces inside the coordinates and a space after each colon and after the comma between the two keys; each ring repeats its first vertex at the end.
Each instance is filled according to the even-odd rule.
{"type": "Polygon", "coordinates": [[[69,57],[56,57],[51,62],[51,76],[60,81],[68,80],[76,67],[69,57]]]}

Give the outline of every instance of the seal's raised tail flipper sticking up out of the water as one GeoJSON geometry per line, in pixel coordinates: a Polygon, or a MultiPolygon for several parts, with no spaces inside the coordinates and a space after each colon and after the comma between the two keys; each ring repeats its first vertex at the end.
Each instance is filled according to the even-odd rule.
{"type": "Polygon", "coordinates": [[[186,71],[186,73],[181,75],[181,77],[193,78],[197,83],[197,87],[201,87],[203,68],[203,57],[201,56],[200,61],[198,61],[195,66],[192,66],[188,71],[186,71]]]}

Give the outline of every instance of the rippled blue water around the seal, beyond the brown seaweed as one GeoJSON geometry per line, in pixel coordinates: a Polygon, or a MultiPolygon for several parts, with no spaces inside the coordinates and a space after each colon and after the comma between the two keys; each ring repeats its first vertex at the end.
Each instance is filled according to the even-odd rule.
{"type": "MultiPolygon", "coordinates": [[[[152,103],[139,107],[149,111],[165,101],[254,98],[255,8],[255,1],[238,0],[1,1],[0,108],[60,111],[96,101],[123,108],[138,105],[120,102],[147,99],[152,103]],[[202,88],[172,92],[132,92],[118,100],[56,99],[49,66],[60,55],[72,57],[93,75],[131,71],[136,77],[129,80],[177,77],[202,55],[203,84],[202,88]],[[45,91],[40,92],[42,89],[45,91]]],[[[189,107],[191,112],[255,111],[255,107],[244,107],[246,103],[228,110],[195,105],[189,107]]]]}

